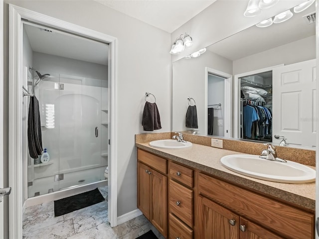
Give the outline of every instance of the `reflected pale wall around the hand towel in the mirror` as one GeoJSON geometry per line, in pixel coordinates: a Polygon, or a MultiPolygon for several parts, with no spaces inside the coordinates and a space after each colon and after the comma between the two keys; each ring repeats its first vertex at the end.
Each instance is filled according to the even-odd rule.
{"type": "Polygon", "coordinates": [[[205,85],[205,68],[209,67],[227,74],[232,74],[232,61],[206,51],[197,58],[180,59],[172,64],[173,82],[172,82],[172,130],[184,131],[185,116],[187,111],[187,97],[194,98],[197,108],[198,133],[205,132],[204,118],[207,111],[205,85]]]}

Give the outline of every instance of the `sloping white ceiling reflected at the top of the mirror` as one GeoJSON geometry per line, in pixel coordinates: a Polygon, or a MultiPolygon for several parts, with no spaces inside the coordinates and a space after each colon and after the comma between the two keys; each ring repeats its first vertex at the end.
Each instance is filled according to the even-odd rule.
{"type": "Polygon", "coordinates": [[[230,37],[207,47],[212,51],[232,61],[246,56],[266,51],[290,42],[294,42],[316,34],[316,24],[307,24],[304,15],[316,11],[316,5],[282,23],[273,23],[269,27],[249,27],[230,37]]]}

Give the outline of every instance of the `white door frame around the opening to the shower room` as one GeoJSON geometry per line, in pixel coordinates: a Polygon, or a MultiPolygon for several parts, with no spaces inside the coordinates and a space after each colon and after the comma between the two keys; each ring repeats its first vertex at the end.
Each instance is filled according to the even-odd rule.
{"type": "Polygon", "coordinates": [[[9,239],[22,238],[22,18],[109,44],[109,200],[108,218],[117,226],[117,38],[9,4],[9,239]]]}

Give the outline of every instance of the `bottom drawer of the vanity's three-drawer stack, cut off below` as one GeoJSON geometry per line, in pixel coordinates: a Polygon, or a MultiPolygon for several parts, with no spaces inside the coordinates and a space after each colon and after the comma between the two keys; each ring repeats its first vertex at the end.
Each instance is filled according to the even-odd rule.
{"type": "Polygon", "coordinates": [[[174,215],[169,214],[169,239],[192,239],[193,230],[179,221],[174,215]]]}

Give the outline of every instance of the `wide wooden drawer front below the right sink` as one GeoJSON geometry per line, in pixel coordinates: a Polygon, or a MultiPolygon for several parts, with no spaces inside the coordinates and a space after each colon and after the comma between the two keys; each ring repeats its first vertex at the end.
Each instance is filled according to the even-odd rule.
{"type": "Polygon", "coordinates": [[[198,193],[206,195],[230,210],[253,218],[279,235],[294,239],[315,238],[313,214],[285,205],[246,189],[198,173],[198,193]]]}

